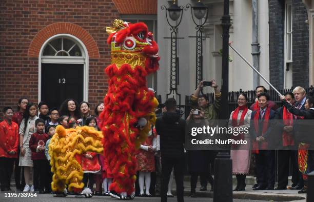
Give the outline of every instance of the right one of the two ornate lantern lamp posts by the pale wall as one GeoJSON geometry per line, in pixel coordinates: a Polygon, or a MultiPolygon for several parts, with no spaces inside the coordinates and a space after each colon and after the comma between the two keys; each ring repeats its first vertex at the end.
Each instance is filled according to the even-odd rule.
{"type": "Polygon", "coordinates": [[[195,6],[191,6],[191,4],[186,5],[186,8],[190,7],[193,23],[196,25],[195,29],[197,30],[196,36],[189,36],[196,38],[195,89],[197,89],[198,85],[203,80],[203,38],[207,38],[207,36],[203,36],[202,30],[206,23],[209,9],[201,2],[201,0],[199,0],[195,6]],[[196,19],[194,19],[194,17],[196,19]]]}

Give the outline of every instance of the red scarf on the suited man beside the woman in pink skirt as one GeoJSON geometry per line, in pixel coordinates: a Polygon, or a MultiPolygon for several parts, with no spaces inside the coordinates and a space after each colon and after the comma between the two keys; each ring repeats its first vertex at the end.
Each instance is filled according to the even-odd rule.
{"type": "MultiPolygon", "coordinates": [[[[256,113],[254,114],[254,130],[256,133],[259,132],[259,116],[260,116],[260,109],[256,110],[256,113]]],[[[267,106],[266,111],[264,113],[264,122],[263,122],[263,130],[262,130],[262,136],[264,133],[266,133],[268,129],[268,120],[269,120],[269,114],[270,114],[270,107],[267,106]]],[[[267,142],[262,142],[261,149],[267,149],[267,142]]],[[[253,140],[252,143],[252,152],[258,154],[259,153],[259,144],[256,142],[256,140],[253,140]]]]}

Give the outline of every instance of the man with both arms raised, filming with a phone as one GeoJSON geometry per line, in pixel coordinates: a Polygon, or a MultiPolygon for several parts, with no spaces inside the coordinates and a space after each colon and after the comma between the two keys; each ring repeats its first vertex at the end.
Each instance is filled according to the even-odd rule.
{"type": "MultiPolygon", "coordinates": [[[[221,92],[214,79],[211,80],[210,82],[206,82],[203,80],[199,84],[198,88],[195,90],[191,99],[192,99],[192,105],[197,105],[201,111],[200,114],[204,114],[203,119],[209,119],[209,120],[218,119],[219,111],[221,108],[221,92]],[[201,90],[206,86],[210,86],[211,88],[214,89],[215,100],[213,104],[209,104],[208,95],[200,94],[201,90]]],[[[206,170],[207,172],[201,174],[200,176],[201,178],[200,191],[207,190],[208,182],[211,184],[211,191],[212,191],[213,190],[213,178],[210,172],[210,165],[213,168],[213,163],[214,163],[215,156],[217,155],[217,152],[216,151],[204,151],[202,155],[205,162],[204,170],[206,170]]]]}

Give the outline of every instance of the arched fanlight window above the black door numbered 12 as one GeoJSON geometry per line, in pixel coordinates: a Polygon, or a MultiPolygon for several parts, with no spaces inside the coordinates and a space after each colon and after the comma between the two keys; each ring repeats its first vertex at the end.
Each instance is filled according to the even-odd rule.
{"type": "Polygon", "coordinates": [[[82,56],[80,47],[71,39],[61,37],[49,42],[43,52],[43,56],[82,56]]]}

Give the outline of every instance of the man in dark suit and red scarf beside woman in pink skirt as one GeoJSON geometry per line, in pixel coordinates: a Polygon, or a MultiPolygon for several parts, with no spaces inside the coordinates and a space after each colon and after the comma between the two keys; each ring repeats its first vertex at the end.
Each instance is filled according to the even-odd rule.
{"type": "Polygon", "coordinates": [[[259,108],[251,114],[250,135],[253,139],[252,150],[255,150],[258,186],[253,190],[272,190],[275,179],[275,152],[267,150],[267,138],[270,136],[271,124],[270,119],[274,119],[276,112],[268,106],[269,95],[260,93],[258,95],[259,108]]]}

